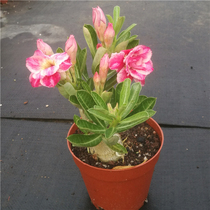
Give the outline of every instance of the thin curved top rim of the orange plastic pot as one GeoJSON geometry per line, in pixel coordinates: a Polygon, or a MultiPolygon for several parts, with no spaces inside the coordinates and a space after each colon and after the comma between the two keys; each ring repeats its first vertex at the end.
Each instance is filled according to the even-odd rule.
{"type": "MultiPolygon", "coordinates": [[[[77,159],[77,161],[79,161],[81,164],[83,164],[83,165],[85,165],[85,166],[88,166],[88,167],[90,167],[90,168],[92,168],[92,169],[100,170],[100,171],[106,171],[106,172],[114,172],[114,171],[120,172],[120,171],[135,170],[136,168],[142,167],[142,166],[147,165],[147,164],[149,164],[150,162],[152,162],[152,161],[160,154],[160,151],[162,150],[162,147],[163,147],[163,143],[164,143],[164,134],[163,134],[162,128],[160,127],[160,125],[159,125],[153,118],[148,119],[148,120],[146,121],[146,123],[148,123],[149,121],[152,121],[152,122],[156,125],[157,128],[156,128],[156,129],[153,128],[154,130],[156,130],[156,131],[159,130],[160,135],[158,135],[158,136],[159,136],[160,142],[161,142],[160,148],[159,148],[159,150],[157,151],[157,153],[156,153],[151,159],[149,159],[149,160],[146,161],[145,163],[141,163],[141,164],[139,164],[139,165],[136,165],[136,166],[133,166],[133,167],[130,167],[130,168],[125,168],[125,169],[104,169],[104,168],[98,168],[98,167],[95,167],[95,166],[91,166],[91,165],[89,165],[89,164],[87,164],[87,163],[81,161],[81,160],[72,152],[72,150],[71,150],[71,145],[72,145],[72,144],[71,144],[71,142],[68,141],[68,139],[67,139],[67,146],[68,146],[68,148],[69,148],[70,153],[72,154],[72,156],[73,156],[75,159],[77,159]]],[[[75,123],[73,123],[72,126],[70,127],[69,132],[68,132],[68,134],[67,134],[67,137],[69,136],[69,133],[70,133],[70,131],[72,130],[72,128],[73,128],[74,126],[76,126],[75,123]]],[[[152,127],[152,126],[151,126],[151,127],[152,127]]]]}

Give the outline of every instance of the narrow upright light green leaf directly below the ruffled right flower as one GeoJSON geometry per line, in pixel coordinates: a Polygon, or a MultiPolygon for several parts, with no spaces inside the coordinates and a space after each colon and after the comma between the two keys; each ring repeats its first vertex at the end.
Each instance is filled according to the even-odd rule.
{"type": "Polygon", "coordinates": [[[129,78],[127,78],[123,81],[122,90],[120,92],[119,107],[121,107],[123,105],[127,105],[128,98],[130,96],[130,85],[131,85],[131,80],[129,78]]]}

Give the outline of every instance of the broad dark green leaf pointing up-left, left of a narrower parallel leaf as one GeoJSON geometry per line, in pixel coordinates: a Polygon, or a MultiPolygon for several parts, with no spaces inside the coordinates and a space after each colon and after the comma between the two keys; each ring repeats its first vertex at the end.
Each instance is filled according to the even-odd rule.
{"type": "Polygon", "coordinates": [[[85,115],[89,120],[95,122],[97,125],[101,125],[102,127],[106,126],[103,121],[96,118],[94,115],[87,111],[88,109],[93,108],[94,105],[96,105],[90,93],[84,90],[77,91],[77,100],[79,101],[81,107],[84,110],[85,115]]]}

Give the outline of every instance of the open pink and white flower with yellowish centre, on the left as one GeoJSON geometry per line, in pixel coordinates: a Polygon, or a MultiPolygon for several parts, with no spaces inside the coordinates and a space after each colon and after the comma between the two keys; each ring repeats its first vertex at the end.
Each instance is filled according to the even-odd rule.
{"type": "Polygon", "coordinates": [[[26,59],[26,67],[31,72],[29,81],[32,87],[55,87],[60,81],[60,73],[67,71],[71,65],[65,52],[49,56],[41,50],[36,50],[33,56],[26,59]]]}

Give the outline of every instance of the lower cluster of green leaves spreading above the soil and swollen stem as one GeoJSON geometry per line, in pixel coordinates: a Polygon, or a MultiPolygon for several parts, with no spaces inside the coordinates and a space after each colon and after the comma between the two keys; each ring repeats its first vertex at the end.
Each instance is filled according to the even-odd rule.
{"type": "Polygon", "coordinates": [[[74,122],[84,134],[73,134],[68,140],[78,147],[93,147],[104,141],[112,150],[127,153],[114,134],[128,130],[155,114],[156,98],[140,96],[141,84],[126,79],[112,88],[106,101],[92,90],[78,90],[71,95],[72,104],[82,109],[88,120],[74,115],[74,122]]]}

